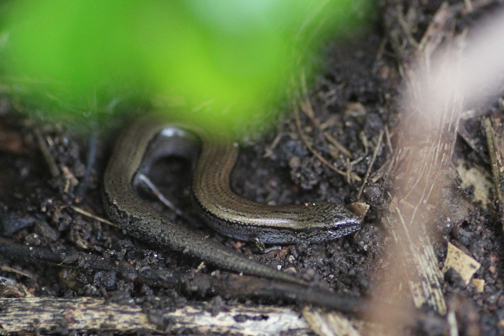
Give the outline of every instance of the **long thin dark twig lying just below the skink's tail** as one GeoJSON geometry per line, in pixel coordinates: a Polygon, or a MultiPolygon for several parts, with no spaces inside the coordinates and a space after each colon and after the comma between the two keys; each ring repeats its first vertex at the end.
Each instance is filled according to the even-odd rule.
{"type": "MultiPolygon", "coordinates": [[[[179,273],[155,267],[142,267],[139,270],[139,267],[131,264],[129,261],[109,260],[101,256],[82,252],[55,253],[46,248],[13,243],[1,237],[0,255],[11,259],[23,260],[28,263],[84,268],[93,272],[113,271],[137,283],[145,283],[162,288],[178,288],[179,290],[197,293],[202,296],[211,294],[229,298],[258,297],[282,299],[334,309],[356,316],[370,316],[368,312],[371,306],[368,300],[346,294],[333,293],[318,286],[307,288],[302,285],[220,272],[218,272],[218,276],[212,276],[203,273],[179,273]]],[[[386,303],[381,303],[381,305],[384,308],[390,306],[386,303]]],[[[412,316],[404,313],[408,311],[407,309],[395,309],[394,311],[398,313],[391,316],[391,318],[403,320],[412,325],[424,319],[432,320],[432,317],[423,315],[420,312],[415,316],[417,319],[415,320],[412,316]]],[[[433,321],[440,325],[444,323],[442,319],[438,318],[433,318],[433,321]]]]}

